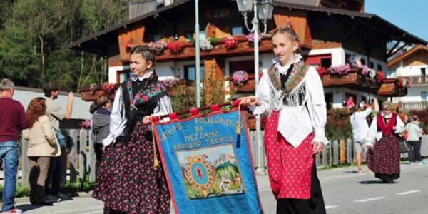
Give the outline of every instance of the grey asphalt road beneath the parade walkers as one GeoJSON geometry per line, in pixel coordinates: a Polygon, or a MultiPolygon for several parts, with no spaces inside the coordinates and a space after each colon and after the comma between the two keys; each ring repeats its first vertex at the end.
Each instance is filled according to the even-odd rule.
{"type": "MultiPolygon", "coordinates": [[[[318,171],[327,213],[428,213],[428,164],[402,164],[401,168],[401,178],[394,184],[382,183],[367,173],[367,168],[362,174],[357,174],[356,168],[318,171]]],[[[276,213],[267,175],[257,179],[263,210],[276,213]]],[[[18,198],[16,206],[25,213],[103,213],[103,203],[88,193],[44,207],[29,205],[28,198],[18,198]]]]}

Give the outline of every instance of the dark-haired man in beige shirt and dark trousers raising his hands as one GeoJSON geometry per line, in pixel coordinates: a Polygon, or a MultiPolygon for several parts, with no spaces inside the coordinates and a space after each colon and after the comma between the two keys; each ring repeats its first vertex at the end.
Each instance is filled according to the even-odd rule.
{"type": "MultiPolygon", "coordinates": [[[[45,99],[46,99],[46,114],[49,116],[49,121],[54,128],[55,136],[58,139],[59,145],[61,146],[61,153],[66,151],[66,138],[61,134],[59,129],[59,121],[63,119],[71,118],[71,111],[73,108],[74,95],[73,92],[68,93],[68,104],[66,111],[63,111],[61,106],[58,105],[54,100],[58,98],[59,87],[56,83],[47,83],[43,88],[45,99]]],[[[62,156],[52,157],[49,165],[49,173],[46,178],[45,190],[49,190],[49,184],[52,183],[50,192],[46,195],[52,195],[58,200],[70,200],[68,195],[65,195],[59,191],[61,185],[61,177],[63,171],[62,156]]]]}

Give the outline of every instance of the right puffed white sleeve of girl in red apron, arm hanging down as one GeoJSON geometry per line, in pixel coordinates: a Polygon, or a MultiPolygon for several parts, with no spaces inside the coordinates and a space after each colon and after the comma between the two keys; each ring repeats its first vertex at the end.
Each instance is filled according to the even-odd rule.
{"type": "Polygon", "coordinates": [[[322,142],[325,145],[330,141],[325,137],[325,123],[327,123],[327,107],[324,98],[324,88],[320,75],[314,67],[310,66],[307,71],[307,88],[309,97],[307,99],[307,110],[310,113],[312,128],[315,138],[312,142],[322,142]]]}

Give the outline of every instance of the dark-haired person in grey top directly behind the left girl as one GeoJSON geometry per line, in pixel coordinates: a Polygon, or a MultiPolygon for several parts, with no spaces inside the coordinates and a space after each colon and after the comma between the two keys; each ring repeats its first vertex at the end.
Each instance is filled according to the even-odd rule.
{"type": "Polygon", "coordinates": [[[101,95],[92,103],[89,112],[92,113],[91,128],[96,136],[96,143],[93,143],[96,153],[96,172],[103,158],[103,139],[107,138],[110,133],[110,108],[111,101],[106,95],[101,95]]]}

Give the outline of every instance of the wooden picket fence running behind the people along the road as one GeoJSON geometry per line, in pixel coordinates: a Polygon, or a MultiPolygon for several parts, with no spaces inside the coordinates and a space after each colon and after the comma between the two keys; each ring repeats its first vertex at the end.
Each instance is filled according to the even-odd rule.
{"type": "MultiPolygon", "coordinates": [[[[77,181],[77,178],[81,180],[88,178],[89,182],[95,181],[96,156],[93,147],[94,138],[92,131],[71,129],[63,130],[63,133],[68,141],[66,150],[61,155],[61,158],[63,158],[62,180],[66,181],[68,179],[73,183],[77,181]]],[[[266,156],[263,137],[262,142],[258,144],[255,141],[255,131],[249,131],[249,138],[255,168],[258,168],[259,172],[264,172],[266,168],[266,156]]],[[[22,183],[24,186],[29,186],[29,161],[26,156],[27,142],[24,139],[22,142],[22,183]]],[[[421,153],[422,156],[428,156],[428,135],[422,137],[421,153]]],[[[407,153],[402,154],[402,157],[407,157],[407,153]]],[[[351,139],[347,139],[346,141],[330,141],[330,145],[325,146],[322,149],[322,153],[315,156],[317,167],[336,166],[353,162],[355,162],[355,152],[351,139]]]]}

